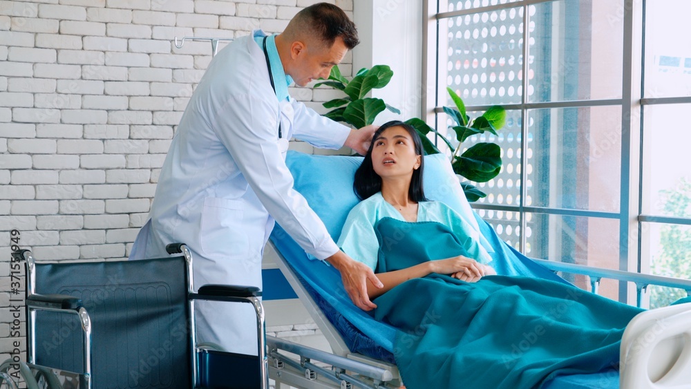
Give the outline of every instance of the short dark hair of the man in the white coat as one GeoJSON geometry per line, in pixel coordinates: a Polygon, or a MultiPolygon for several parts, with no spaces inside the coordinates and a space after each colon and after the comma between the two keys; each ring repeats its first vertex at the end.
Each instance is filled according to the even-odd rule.
{"type": "Polygon", "coordinates": [[[293,18],[300,25],[307,27],[314,35],[321,37],[321,41],[331,47],[337,37],[343,39],[348,50],[352,50],[360,40],[357,29],[345,12],[329,3],[316,3],[298,12],[293,18]]]}

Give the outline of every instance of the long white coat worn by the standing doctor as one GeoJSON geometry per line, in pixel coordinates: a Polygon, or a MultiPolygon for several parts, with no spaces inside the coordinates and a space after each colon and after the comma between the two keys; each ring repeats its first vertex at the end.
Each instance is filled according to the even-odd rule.
{"type": "MultiPolygon", "coordinates": [[[[340,148],[350,132],[292,98],[279,104],[252,36],[220,50],[182,115],[131,258],[165,256],[165,245],[183,242],[193,254],[195,285],[261,287],[274,219],[316,258],[336,253],[323,222],[293,189],[277,140],[279,115],[283,137],[322,148],[340,148]]],[[[198,303],[197,325],[200,341],[256,354],[249,304],[198,303]]]]}

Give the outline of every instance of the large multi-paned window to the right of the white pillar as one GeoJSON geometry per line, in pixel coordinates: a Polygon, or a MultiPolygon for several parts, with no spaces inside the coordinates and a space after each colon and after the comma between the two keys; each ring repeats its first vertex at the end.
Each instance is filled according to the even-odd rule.
{"type": "MultiPolygon", "coordinates": [[[[427,12],[428,120],[448,131],[447,86],[468,111],[507,108],[497,137],[466,140],[502,147],[502,172],[473,183],[488,194],[480,216],[533,258],[691,278],[691,3],[442,0],[427,12]]],[[[600,287],[622,301],[632,290],[600,287]]]]}

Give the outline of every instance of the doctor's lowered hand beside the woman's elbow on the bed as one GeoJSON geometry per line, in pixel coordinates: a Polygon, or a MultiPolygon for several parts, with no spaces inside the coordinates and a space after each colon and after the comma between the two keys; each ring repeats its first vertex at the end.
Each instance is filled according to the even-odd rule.
{"type": "Polygon", "coordinates": [[[379,281],[379,278],[375,276],[372,269],[364,263],[350,258],[348,254],[340,250],[336,254],[326,258],[326,260],[341,272],[345,292],[348,292],[350,300],[352,300],[357,307],[364,311],[370,311],[377,307],[375,303],[370,301],[367,294],[367,281],[370,281],[372,285],[378,288],[384,287],[384,284],[379,281]]]}

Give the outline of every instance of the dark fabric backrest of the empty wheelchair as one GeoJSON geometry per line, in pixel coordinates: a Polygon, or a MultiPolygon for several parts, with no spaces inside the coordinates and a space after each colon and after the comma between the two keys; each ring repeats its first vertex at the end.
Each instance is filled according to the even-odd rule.
{"type": "MultiPolygon", "coordinates": [[[[94,388],[189,388],[190,328],[184,256],[36,264],[36,293],[81,299],[91,316],[94,388]]],[[[35,363],[80,372],[74,314],[36,312],[35,363]]]]}

